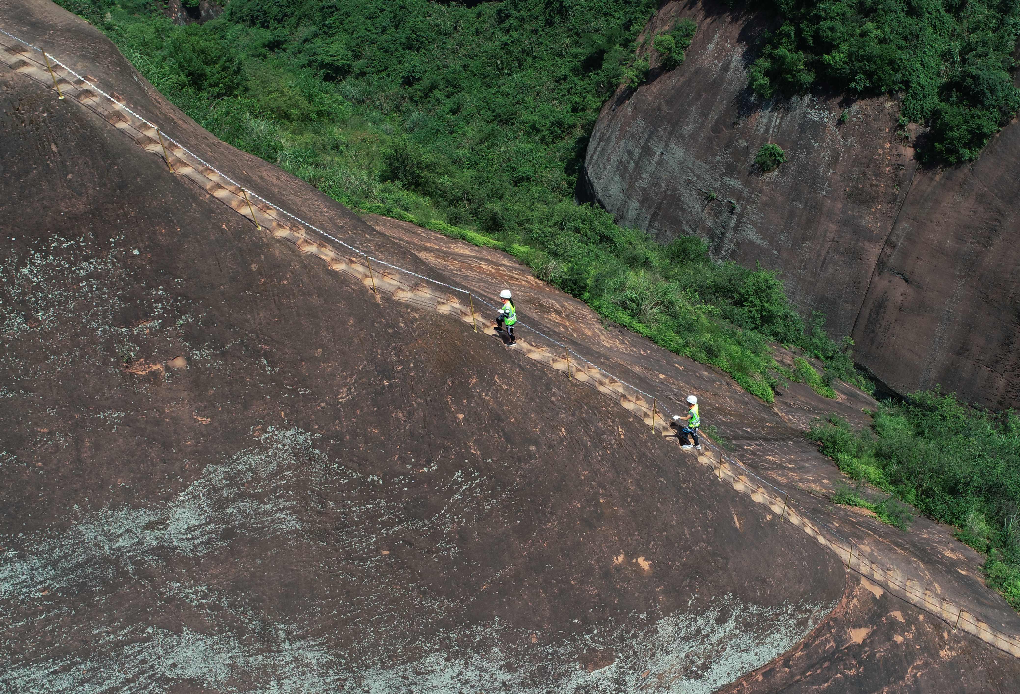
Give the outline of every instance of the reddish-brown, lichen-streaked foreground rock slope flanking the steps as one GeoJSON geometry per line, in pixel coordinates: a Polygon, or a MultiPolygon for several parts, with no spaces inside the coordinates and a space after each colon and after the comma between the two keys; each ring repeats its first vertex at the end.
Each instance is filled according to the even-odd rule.
{"type": "MultiPolygon", "coordinates": [[[[795,384],[764,405],[504,254],[367,225],[219,143],[51,4],[0,1],[0,26],[311,224],[480,295],[513,287],[523,323],[668,407],[699,394],[792,503],[1018,631],[948,529],[825,500],[838,474],[800,432],[863,420],[863,394],[795,384]]],[[[44,83],[0,66],[0,689],[699,692],[829,644],[876,667],[845,691],[916,691],[913,662],[937,657],[961,675],[926,691],[988,662],[1020,681],[959,632],[916,639],[914,660],[899,632],[848,639],[932,617],[887,595],[830,613],[831,552],[612,399],[259,234],[44,83]]],[[[769,691],[812,676],[792,662],[769,691]]]]}

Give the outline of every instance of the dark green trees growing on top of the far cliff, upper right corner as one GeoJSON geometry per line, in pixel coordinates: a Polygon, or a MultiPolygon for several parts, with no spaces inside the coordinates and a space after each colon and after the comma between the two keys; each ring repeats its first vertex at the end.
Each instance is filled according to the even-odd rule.
{"type": "MultiPolygon", "coordinates": [[[[759,3],[764,4],[764,3],[759,3]]],[[[902,118],[930,127],[921,153],[977,157],[1020,107],[1012,53],[1017,0],[778,0],[782,26],[751,67],[763,97],[819,85],[851,94],[903,92],[902,118]]]]}

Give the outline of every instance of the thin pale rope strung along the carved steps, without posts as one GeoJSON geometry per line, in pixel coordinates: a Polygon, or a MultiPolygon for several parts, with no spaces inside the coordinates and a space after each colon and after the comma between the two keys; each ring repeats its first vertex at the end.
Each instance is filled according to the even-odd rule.
{"type": "MultiPolygon", "coordinates": [[[[330,240],[330,241],[333,241],[333,242],[335,242],[337,244],[340,244],[344,248],[347,248],[347,249],[353,251],[357,255],[364,256],[367,260],[369,260],[371,262],[375,262],[375,263],[377,263],[379,265],[384,265],[384,266],[389,267],[391,269],[397,270],[398,272],[403,272],[405,275],[409,275],[411,277],[417,278],[419,280],[423,280],[425,282],[429,282],[431,284],[438,285],[440,287],[444,287],[444,288],[449,289],[449,290],[454,291],[454,292],[459,292],[459,293],[462,293],[462,294],[467,294],[467,295],[473,297],[474,299],[477,299],[481,304],[483,304],[486,306],[489,306],[490,308],[494,308],[494,309],[498,309],[499,308],[495,304],[492,304],[492,303],[486,301],[480,296],[475,297],[474,293],[472,291],[470,291],[470,290],[463,289],[461,287],[456,287],[454,285],[450,285],[450,284],[447,284],[445,282],[441,282],[441,281],[436,280],[434,278],[429,278],[429,277],[426,277],[424,275],[420,275],[420,274],[415,272],[413,270],[407,269],[406,267],[401,267],[400,265],[395,265],[395,264],[393,264],[391,262],[382,260],[381,258],[376,258],[374,256],[371,256],[368,253],[366,253],[365,251],[361,250],[360,248],[358,248],[358,247],[356,247],[356,246],[354,246],[352,244],[349,244],[346,241],[343,241],[343,240],[337,238],[333,234],[330,234],[330,233],[328,233],[328,232],[326,232],[326,231],[324,231],[322,229],[319,229],[318,227],[316,227],[316,226],[314,226],[312,224],[309,224],[308,221],[305,221],[304,219],[302,219],[301,217],[297,216],[296,214],[293,214],[289,210],[284,209],[283,207],[273,204],[272,202],[270,202],[270,201],[266,200],[265,198],[263,198],[258,193],[256,193],[256,192],[254,192],[252,190],[249,190],[245,186],[242,186],[240,183],[238,183],[237,181],[235,181],[234,179],[232,179],[230,176],[227,176],[226,174],[222,172],[221,170],[219,170],[218,168],[216,168],[215,166],[213,166],[212,164],[210,164],[208,161],[206,161],[202,157],[200,157],[197,154],[195,154],[195,152],[191,151],[183,143],[181,143],[176,139],[174,139],[174,138],[170,137],[169,135],[167,135],[165,130],[159,128],[158,126],[156,126],[154,122],[152,122],[151,120],[149,120],[145,116],[143,116],[140,113],[138,113],[135,110],[133,110],[131,107],[128,106],[128,104],[125,102],[120,101],[120,100],[114,98],[113,96],[107,94],[105,91],[103,91],[102,89],[100,89],[94,82],[86,80],[85,77],[83,77],[82,75],[80,75],[79,72],[76,72],[74,69],[72,69],[69,65],[67,65],[63,61],[61,61],[61,60],[57,59],[56,57],[54,57],[48,51],[44,51],[39,46],[36,46],[36,45],[34,45],[34,44],[32,44],[32,43],[30,43],[28,41],[24,41],[20,37],[17,37],[17,36],[9,33],[7,31],[5,31],[2,28],[0,28],[0,34],[3,34],[5,36],[9,37],[10,39],[13,39],[14,41],[22,44],[23,46],[27,46],[28,48],[31,48],[31,49],[33,49],[35,51],[38,51],[39,53],[44,54],[45,57],[49,58],[49,60],[52,62],[53,65],[58,65],[58,66],[62,67],[69,75],[71,75],[74,78],[76,78],[79,80],[79,82],[82,82],[82,83],[88,85],[88,88],[90,90],[92,90],[93,92],[95,92],[95,93],[97,93],[97,94],[105,97],[107,100],[109,100],[111,103],[113,103],[116,108],[119,108],[119,109],[121,109],[123,111],[126,111],[128,113],[132,114],[133,116],[135,116],[141,122],[149,126],[150,128],[152,128],[153,130],[155,130],[157,133],[161,134],[162,138],[166,142],[171,143],[172,145],[176,145],[176,147],[181,151],[183,151],[186,154],[188,154],[193,160],[195,160],[196,162],[202,164],[203,166],[205,166],[209,170],[213,171],[218,177],[220,177],[223,181],[226,181],[227,183],[233,184],[234,186],[240,188],[242,191],[246,191],[251,197],[255,198],[256,200],[261,201],[262,203],[264,203],[265,205],[267,205],[270,209],[276,210],[276,211],[278,211],[278,212],[287,215],[288,217],[290,217],[290,218],[294,219],[295,221],[297,221],[299,225],[301,225],[301,226],[303,226],[303,227],[305,227],[307,229],[310,229],[310,230],[314,231],[316,234],[318,234],[319,236],[321,236],[321,237],[323,237],[325,239],[328,239],[328,240],[330,240]]],[[[602,373],[603,375],[605,375],[606,377],[608,377],[612,381],[615,381],[615,382],[619,383],[620,385],[625,386],[626,388],[629,388],[631,391],[633,391],[635,393],[640,393],[641,395],[644,395],[646,398],[650,398],[650,399],[658,401],[658,403],[659,403],[659,405],[658,405],[659,409],[663,410],[666,413],[666,415],[668,417],[670,417],[670,419],[672,418],[672,416],[673,416],[672,411],[670,411],[670,409],[667,406],[663,405],[662,404],[663,401],[660,400],[660,399],[658,399],[656,396],[653,396],[653,395],[651,395],[649,393],[646,393],[644,390],[638,388],[636,386],[633,386],[632,384],[627,383],[626,381],[618,378],[617,376],[611,374],[610,371],[607,371],[606,369],[604,369],[601,366],[599,366],[597,363],[595,363],[595,362],[591,361],[590,359],[581,356],[575,350],[571,349],[570,347],[568,347],[564,343],[560,342],[559,340],[556,340],[555,338],[550,337],[549,335],[546,335],[545,333],[543,333],[542,331],[540,331],[539,329],[537,329],[534,327],[528,326],[527,324],[523,323],[522,320],[518,320],[517,324],[515,324],[515,327],[523,328],[526,331],[530,331],[531,333],[541,336],[542,338],[544,338],[548,342],[551,342],[551,343],[557,345],[558,347],[562,347],[568,354],[573,355],[575,357],[575,359],[577,359],[579,361],[582,361],[583,363],[588,364],[589,366],[591,366],[591,367],[595,368],[596,370],[602,373]]],[[[754,478],[755,480],[757,480],[758,482],[760,482],[762,485],[764,485],[764,486],[766,486],[768,488],[771,488],[772,490],[774,490],[775,492],[777,492],[780,495],[780,498],[782,496],[788,496],[787,493],[784,490],[782,490],[781,488],[775,486],[771,482],[763,479],[761,476],[759,476],[756,473],[754,473],[753,470],[751,470],[743,462],[741,462],[740,460],[736,460],[735,458],[733,458],[730,455],[728,455],[725,451],[722,450],[722,448],[718,444],[716,444],[715,442],[712,442],[711,439],[708,436],[706,436],[705,434],[701,434],[701,436],[705,439],[706,444],[708,444],[708,448],[714,449],[716,451],[716,454],[719,456],[719,460],[720,460],[720,477],[721,477],[721,464],[722,464],[721,461],[725,460],[725,461],[729,462],[731,465],[740,468],[741,470],[744,470],[744,473],[746,473],[751,478],[754,478]]],[[[787,508],[792,512],[797,512],[798,514],[803,514],[804,516],[810,518],[812,520],[812,523],[815,524],[816,527],[818,527],[818,528],[824,528],[829,534],[831,534],[831,536],[833,536],[833,537],[837,538],[838,540],[843,541],[844,543],[846,543],[848,545],[848,548],[851,550],[851,557],[853,556],[853,551],[852,550],[854,548],[856,548],[858,550],[858,556],[861,556],[861,554],[860,554],[860,551],[861,551],[860,550],[860,546],[857,543],[855,543],[855,542],[853,542],[853,541],[845,538],[843,535],[840,535],[835,530],[833,530],[831,526],[829,526],[828,524],[826,524],[824,522],[818,519],[817,516],[815,516],[813,513],[811,513],[810,511],[808,511],[807,508],[805,508],[801,503],[797,502],[796,500],[789,500],[787,502],[787,508]]],[[[871,565],[875,565],[875,564],[871,563],[870,559],[868,560],[868,562],[871,565]]],[[[860,574],[861,576],[864,576],[863,572],[861,572],[860,569],[854,568],[850,564],[850,560],[848,560],[847,567],[849,569],[851,569],[851,571],[854,571],[857,574],[860,574]]],[[[884,581],[886,581],[887,583],[892,584],[896,587],[904,590],[904,592],[907,592],[908,594],[912,593],[911,588],[908,585],[906,585],[906,583],[900,583],[899,581],[894,580],[892,577],[888,575],[888,572],[886,569],[882,569],[882,571],[884,571],[886,573],[886,577],[885,577],[884,581]]],[[[909,581],[909,579],[908,579],[908,581],[909,581]]],[[[946,601],[944,600],[942,602],[945,603],[946,601]]],[[[952,605],[952,603],[949,603],[949,604],[952,605]]],[[[952,606],[957,607],[957,609],[959,610],[959,614],[961,614],[961,615],[963,614],[964,610],[963,610],[962,606],[958,606],[958,605],[952,605],[952,606]]],[[[928,611],[930,612],[930,610],[928,610],[928,611]]],[[[970,613],[968,612],[968,614],[970,614],[970,613]]],[[[937,616],[937,614],[936,614],[936,616],[937,616]]],[[[971,614],[971,616],[975,616],[976,617],[976,615],[972,615],[972,614],[971,614]]],[[[942,618],[945,619],[945,617],[942,617],[942,618]]],[[[959,616],[958,616],[958,622],[959,622],[959,616]]],[[[979,626],[976,623],[970,622],[970,621],[966,621],[966,622],[970,623],[972,626],[974,626],[975,628],[979,629],[979,626]]],[[[985,630],[985,631],[988,631],[988,630],[985,630]]],[[[1014,644],[1020,644],[1020,641],[1018,641],[1015,637],[1010,637],[1010,636],[1008,636],[1006,634],[1002,634],[1002,633],[998,633],[997,636],[999,638],[1003,638],[1004,640],[1006,640],[1008,642],[1011,642],[1011,643],[1014,643],[1014,644]]],[[[985,639],[985,641],[986,641],[986,639],[985,639]]],[[[991,644],[991,645],[996,645],[996,644],[991,644]]]]}

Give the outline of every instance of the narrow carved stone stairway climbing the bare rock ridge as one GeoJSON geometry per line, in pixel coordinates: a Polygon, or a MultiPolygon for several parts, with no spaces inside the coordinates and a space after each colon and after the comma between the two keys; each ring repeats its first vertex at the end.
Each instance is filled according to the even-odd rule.
{"type": "MultiPolygon", "coordinates": [[[[472,307],[470,298],[465,304],[465,297],[445,291],[438,284],[434,285],[406,270],[372,265],[367,256],[335,248],[316,233],[296,224],[282,210],[261,199],[253,200],[247,191],[211,166],[195,161],[181,145],[170,141],[151,123],[133,113],[122,97],[111,93],[107,98],[107,95],[98,89],[96,81],[87,76],[85,78],[73,76],[60,63],[54,64],[52,60],[47,64],[44,54],[16,40],[11,40],[12,37],[5,34],[0,34],[0,59],[9,68],[51,90],[59,91],[61,98],[76,101],[88,107],[132,138],[141,149],[162,157],[166,162],[168,175],[188,179],[237,213],[251,219],[259,230],[294,244],[303,253],[321,258],[330,269],[359,283],[365,291],[385,294],[421,308],[434,309],[470,325],[478,332],[497,335],[489,321],[478,315],[472,307]]],[[[643,394],[634,392],[635,389],[626,386],[594,364],[570,359],[569,354],[561,348],[520,338],[517,340],[517,348],[523,356],[554,370],[563,371],[567,378],[595,388],[603,395],[612,398],[621,407],[640,417],[653,432],[658,432],[663,437],[675,435],[667,418],[656,409],[655,402],[649,402],[643,394]]],[[[925,586],[919,581],[906,578],[895,566],[878,565],[830,528],[809,517],[810,513],[806,510],[792,506],[788,496],[751,473],[731,456],[720,450],[701,452],[692,450],[684,453],[690,453],[698,462],[710,467],[720,483],[727,484],[735,491],[766,506],[779,522],[793,524],[823,547],[832,549],[849,568],[884,586],[894,595],[942,618],[954,629],[962,629],[1003,651],[1020,657],[1020,634],[1007,634],[993,629],[979,615],[940,597],[937,587],[925,586]]]]}

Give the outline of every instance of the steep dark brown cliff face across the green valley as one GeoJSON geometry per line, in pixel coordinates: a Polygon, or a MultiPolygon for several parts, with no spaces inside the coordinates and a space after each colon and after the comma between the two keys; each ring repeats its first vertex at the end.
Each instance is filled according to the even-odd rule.
{"type": "Polygon", "coordinates": [[[1020,128],[973,165],[925,169],[897,135],[895,99],[763,104],[747,89],[760,20],[670,2],[648,31],[682,16],[698,22],[684,64],[603,109],[585,161],[592,198],[661,241],[694,234],[718,257],[781,270],[795,304],[824,311],[899,391],[940,384],[985,406],[1020,404],[1020,128]],[[754,157],[767,142],[787,162],[763,175],[754,157]]]}

